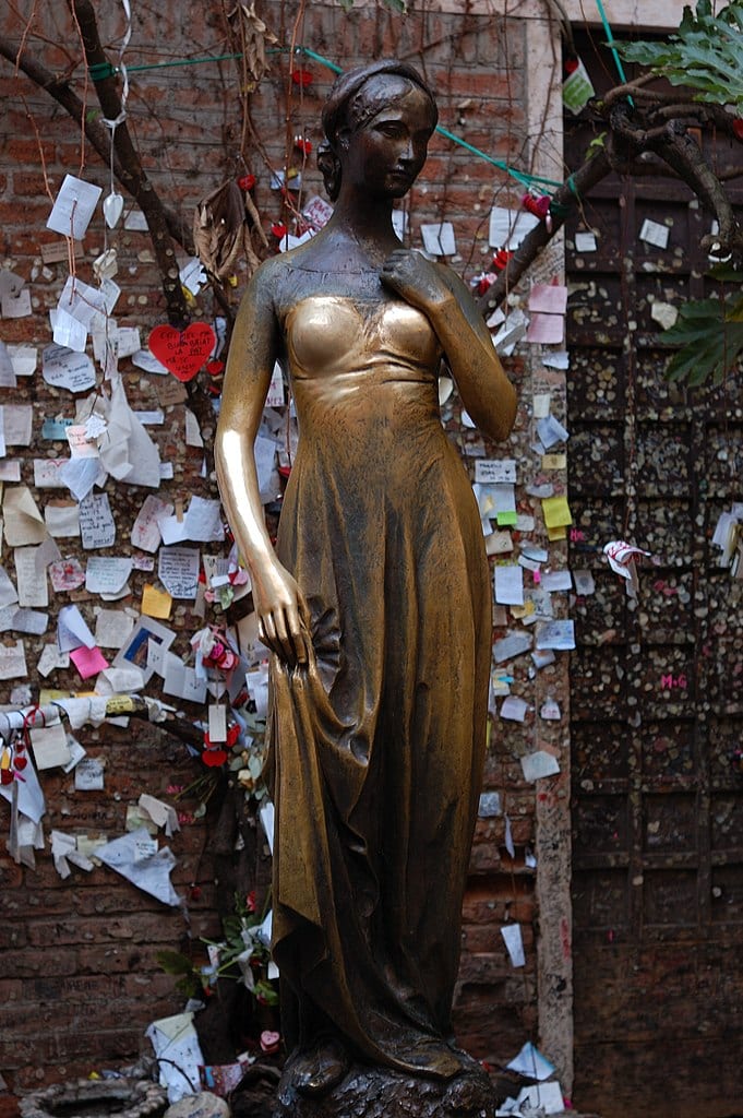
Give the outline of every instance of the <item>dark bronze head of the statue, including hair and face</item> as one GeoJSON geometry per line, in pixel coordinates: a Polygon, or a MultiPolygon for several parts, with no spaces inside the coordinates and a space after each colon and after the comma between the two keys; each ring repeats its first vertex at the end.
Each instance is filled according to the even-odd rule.
{"type": "MultiPolygon", "coordinates": [[[[387,190],[397,197],[404,195],[426,160],[426,148],[437,121],[438,110],[431,89],[407,63],[382,59],[342,74],[334,82],[323,110],[325,142],[317,153],[331,200],[335,201],[340,193],[344,167],[350,171],[354,165],[359,138],[370,131],[378,133],[379,151],[368,151],[368,171],[374,170],[375,154],[383,162],[385,158],[394,159],[392,149],[399,149],[398,181],[396,184],[396,172],[391,169],[387,190]],[[404,152],[403,134],[410,141],[404,152]],[[384,151],[385,138],[389,151],[384,151]]],[[[371,138],[364,139],[369,144],[371,138]]],[[[375,176],[370,173],[371,189],[373,178],[375,176]]]]}

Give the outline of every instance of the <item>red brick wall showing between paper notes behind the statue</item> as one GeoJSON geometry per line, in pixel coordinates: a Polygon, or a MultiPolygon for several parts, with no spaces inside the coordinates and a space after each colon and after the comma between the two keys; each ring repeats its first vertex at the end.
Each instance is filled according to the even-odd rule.
{"type": "MultiPolygon", "coordinates": [[[[22,7],[30,10],[31,4],[22,7]]],[[[63,44],[64,49],[44,44],[34,32],[27,48],[38,51],[53,69],[65,69],[70,59],[79,56],[75,31],[67,23],[65,6],[42,7],[34,32],[42,31],[51,42],[63,44]]],[[[102,9],[103,38],[114,44],[122,31],[121,10],[113,3],[97,7],[102,9]]],[[[190,4],[184,11],[178,4],[152,7],[135,2],[133,10],[133,36],[126,53],[132,67],[230,49],[217,3],[190,4]]],[[[287,42],[294,6],[289,9],[265,3],[261,12],[280,42],[287,42]]],[[[18,20],[7,8],[0,19],[0,31],[18,41],[22,31],[18,20]]],[[[402,20],[381,7],[345,15],[340,8],[313,3],[297,28],[297,41],[344,68],[392,53],[410,59],[423,68],[437,92],[441,124],[490,155],[528,168],[532,151],[525,125],[525,25],[517,19],[418,12],[402,20]]],[[[114,57],[111,50],[109,55],[114,57]]],[[[253,100],[253,126],[274,167],[284,164],[287,135],[303,132],[315,143],[320,139],[320,111],[332,75],[315,61],[302,65],[313,76],[304,91],[288,82],[286,55],[275,56],[270,75],[253,100]],[[288,122],[287,88],[292,92],[288,122]]],[[[74,77],[78,93],[83,88],[80,75],[78,66],[74,77]]],[[[190,216],[194,203],[235,168],[239,135],[235,64],[132,72],[131,82],[128,121],[145,165],[166,201],[182,206],[190,216]]],[[[0,320],[0,338],[6,342],[34,342],[41,348],[50,341],[47,311],[56,304],[67,266],[45,268],[39,258],[40,244],[58,238],[45,230],[50,202],[26,105],[42,139],[53,195],[65,172],[79,171],[79,130],[29,80],[15,77],[12,66],[6,61],[0,61],[0,96],[4,104],[0,120],[2,255],[6,265],[27,281],[34,305],[30,318],[0,320]]],[[[95,106],[92,89],[88,105],[95,106]]],[[[268,228],[283,216],[279,196],[268,187],[267,167],[259,154],[250,158],[249,169],[258,178],[255,199],[268,228]]],[[[107,172],[87,146],[82,173],[106,184],[107,172]]],[[[318,189],[318,176],[312,165],[305,169],[305,184],[307,195],[318,189]]],[[[470,276],[490,259],[490,206],[513,202],[520,193],[520,188],[514,189],[503,173],[437,136],[427,169],[410,197],[411,243],[420,244],[418,226],[422,220],[451,220],[460,257],[453,262],[454,266],[470,276]]],[[[144,335],[164,319],[147,237],[120,229],[109,235],[109,241],[118,252],[116,282],[122,286],[115,316],[121,325],[143,328],[144,335]]],[[[83,245],[78,266],[83,280],[91,281],[91,260],[102,247],[103,220],[98,211],[83,245]]],[[[242,281],[229,294],[234,304],[241,286],[242,281]]],[[[209,319],[211,313],[210,300],[201,297],[196,316],[209,319]]],[[[155,407],[153,378],[140,373],[128,361],[122,362],[122,369],[132,406],[155,407]]],[[[514,367],[514,376],[521,380],[525,373],[514,367]]],[[[9,400],[7,389],[0,390],[2,395],[9,400]]],[[[32,380],[20,382],[13,400],[20,399],[34,402],[38,417],[35,444],[21,451],[28,459],[22,480],[30,484],[34,456],[66,453],[61,445],[36,442],[44,416],[58,411],[69,415],[73,404],[67,394],[48,388],[38,372],[32,380]]],[[[200,455],[184,447],[182,406],[166,411],[165,426],[155,428],[155,437],[162,456],[173,461],[175,477],[164,486],[164,493],[185,495],[200,484],[199,492],[213,494],[212,479],[198,481],[200,455]]],[[[456,411],[449,426],[463,448],[482,451],[478,436],[465,436],[456,411]]],[[[513,454],[507,452],[511,456],[524,448],[527,430],[522,414],[513,454]]],[[[145,493],[127,491],[125,485],[113,489],[111,484],[108,492],[118,541],[127,542],[128,527],[145,493]]],[[[117,553],[122,550],[125,547],[114,549],[117,553]]],[[[9,560],[6,557],[3,561],[9,560]]],[[[50,612],[54,615],[54,599],[50,612]]],[[[201,622],[182,610],[174,624],[183,634],[178,646],[183,652],[188,634],[201,622]]],[[[45,639],[49,638],[47,633],[45,639]]],[[[27,638],[30,665],[36,662],[37,651],[34,639],[27,638]]],[[[31,674],[30,682],[36,695],[39,680],[31,674]]],[[[58,675],[54,685],[75,688],[79,681],[74,673],[69,678],[58,675]]],[[[8,695],[9,688],[0,685],[0,702],[8,695]]],[[[498,722],[493,727],[486,783],[488,788],[501,792],[511,816],[516,860],[512,864],[504,849],[503,816],[482,819],[465,904],[457,998],[460,1041],[477,1055],[496,1062],[517,1050],[533,1032],[536,1016],[533,873],[524,869],[523,862],[524,847],[534,839],[534,796],[532,786],[523,784],[517,761],[517,755],[531,741],[533,728],[517,727],[514,732],[514,724],[498,722]],[[508,963],[499,935],[504,919],[522,925],[527,955],[523,970],[513,970],[508,963]]],[[[69,777],[45,776],[47,833],[54,826],[68,833],[104,832],[115,837],[123,832],[126,805],[135,802],[141,792],[168,798],[169,785],[188,784],[199,771],[198,762],[185,756],[182,746],[152,728],[131,733],[107,727],[98,731],[88,728],[79,737],[88,752],[107,759],[105,792],[76,794],[69,777]]],[[[3,830],[7,818],[7,808],[0,808],[3,830]]],[[[194,824],[184,826],[170,843],[178,858],[174,883],[189,899],[190,928],[178,911],[150,900],[105,869],[89,875],[73,870],[72,877],[61,881],[48,850],[37,853],[34,871],[17,866],[4,853],[0,856],[0,1070],[15,1089],[22,1091],[57,1078],[126,1062],[140,1050],[149,1050],[143,1031],[151,1020],[181,1008],[182,999],[174,994],[172,979],[160,972],[154,956],[162,947],[181,947],[188,935],[216,934],[210,907],[213,866],[204,853],[208,836],[209,826],[194,824]],[[201,889],[198,900],[193,885],[201,889]]]]}

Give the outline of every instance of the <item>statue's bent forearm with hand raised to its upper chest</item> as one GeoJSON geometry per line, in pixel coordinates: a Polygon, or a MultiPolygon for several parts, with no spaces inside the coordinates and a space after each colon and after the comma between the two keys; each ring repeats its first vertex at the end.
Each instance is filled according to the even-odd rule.
{"type": "Polygon", "coordinates": [[[429,319],[473,420],[489,438],[506,438],[516,418],[516,390],[467,287],[450,268],[409,249],[392,253],[381,276],[429,319]]]}

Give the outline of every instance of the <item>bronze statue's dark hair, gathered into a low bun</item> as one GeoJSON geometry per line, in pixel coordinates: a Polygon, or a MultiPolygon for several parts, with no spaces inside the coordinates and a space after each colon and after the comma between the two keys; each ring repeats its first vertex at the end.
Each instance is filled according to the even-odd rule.
{"type": "Polygon", "coordinates": [[[398,61],[396,58],[382,58],[339,75],[323,108],[325,140],[317,149],[317,165],[325,180],[325,190],[331,201],[335,201],[341,190],[339,132],[346,126],[355,132],[380,111],[381,100],[364,97],[363,87],[371,78],[387,75],[403,78],[426,94],[431,104],[431,126],[436,126],[439,114],[434,92],[415,66],[398,61]]]}

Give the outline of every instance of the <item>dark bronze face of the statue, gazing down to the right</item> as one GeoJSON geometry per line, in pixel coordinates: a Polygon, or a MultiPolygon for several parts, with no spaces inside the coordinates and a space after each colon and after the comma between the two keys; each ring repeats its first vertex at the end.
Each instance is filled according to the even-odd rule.
{"type": "Polygon", "coordinates": [[[341,130],[343,182],[373,196],[402,198],[420,173],[434,131],[431,103],[404,78],[370,79],[375,112],[355,130],[341,130]],[[383,83],[384,95],[377,87],[383,83]],[[379,108],[377,108],[379,104],[379,108]]]}

